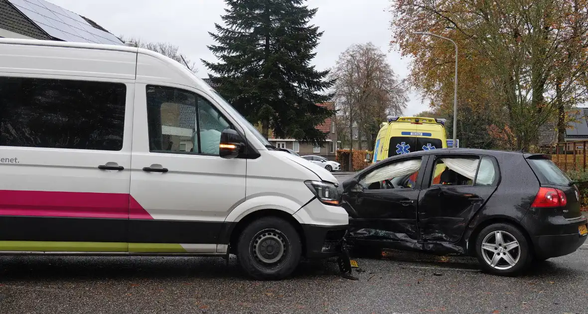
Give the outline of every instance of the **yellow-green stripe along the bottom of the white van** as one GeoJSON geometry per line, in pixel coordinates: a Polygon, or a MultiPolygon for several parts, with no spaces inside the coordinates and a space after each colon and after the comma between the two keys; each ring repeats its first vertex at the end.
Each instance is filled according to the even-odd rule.
{"type": "Polygon", "coordinates": [[[5,252],[132,252],[186,253],[177,243],[0,241],[5,252]]]}

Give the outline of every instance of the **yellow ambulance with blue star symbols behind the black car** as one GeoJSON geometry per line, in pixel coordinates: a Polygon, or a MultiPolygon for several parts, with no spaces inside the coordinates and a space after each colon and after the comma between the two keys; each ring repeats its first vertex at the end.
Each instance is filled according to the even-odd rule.
{"type": "Polygon", "coordinates": [[[389,116],[377,133],[372,163],[409,152],[447,148],[445,119],[389,116]]]}

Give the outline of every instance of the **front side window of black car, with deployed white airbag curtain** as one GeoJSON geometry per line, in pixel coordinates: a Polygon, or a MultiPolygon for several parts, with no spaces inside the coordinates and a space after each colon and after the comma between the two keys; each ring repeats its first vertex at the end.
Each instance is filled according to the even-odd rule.
{"type": "Polygon", "coordinates": [[[359,184],[368,190],[415,188],[421,162],[414,158],[388,163],[367,173],[359,184]]]}

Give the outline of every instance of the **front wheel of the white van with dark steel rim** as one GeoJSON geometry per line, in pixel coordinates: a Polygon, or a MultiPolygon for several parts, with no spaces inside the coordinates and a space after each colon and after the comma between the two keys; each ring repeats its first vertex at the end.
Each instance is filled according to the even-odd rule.
{"type": "Polygon", "coordinates": [[[302,255],[296,229],[278,217],[253,221],[243,229],[237,244],[239,265],[255,279],[282,279],[289,276],[302,255]]]}

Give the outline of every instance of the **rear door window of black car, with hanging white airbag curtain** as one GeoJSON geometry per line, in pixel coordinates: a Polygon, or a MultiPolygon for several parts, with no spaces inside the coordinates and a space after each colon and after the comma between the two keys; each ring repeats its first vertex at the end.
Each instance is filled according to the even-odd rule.
{"type": "Polygon", "coordinates": [[[437,156],[430,185],[473,185],[480,158],[437,156]]]}

